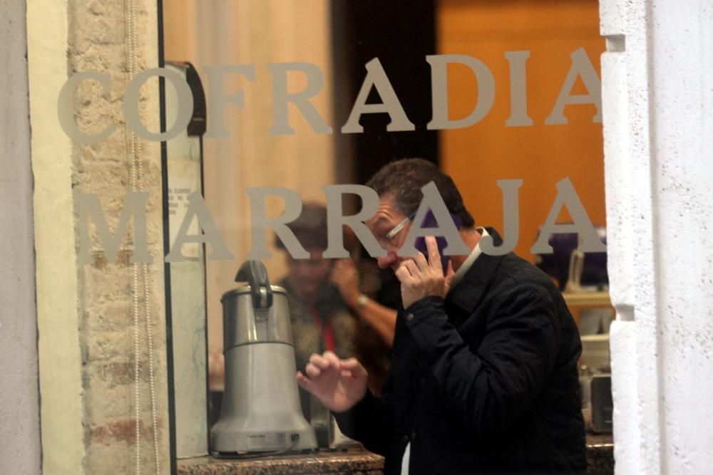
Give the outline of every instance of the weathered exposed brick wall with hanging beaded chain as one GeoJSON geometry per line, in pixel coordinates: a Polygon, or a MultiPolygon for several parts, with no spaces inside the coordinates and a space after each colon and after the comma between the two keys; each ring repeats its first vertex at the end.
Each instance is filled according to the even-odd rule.
{"type": "MultiPolygon", "coordinates": [[[[110,229],[115,230],[125,195],[132,190],[131,134],[126,127],[121,99],[130,79],[129,1],[70,0],[68,3],[68,75],[81,71],[111,74],[111,95],[105,98],[97,83],[84,81],[75,95],[78,125],[99,132],[113,123],[108,139],[73,146],[72,187],[75,192],[98,194],[110,229]]],[[[158,66],[158,30],[155,1],[135,1],[138,71],[158,66]]],[[[149,130],[158,131],[158,80],[142,89],[141,112],[149,130]]],[[[138,137],[137,137],[138,140],[138,137]]],[[[161,216],[160,149],[142,141],[140,165],[148,201],[148,245],[153,263],[148,265],[148,313],[153,335],[153,368],[158,454],[162,473],[169,468],[168,402],[165,358],[165,306],[163,288],[163,230],[161,216]]],[[[137,171],[138,173],[138,171],[137,171]]],[[[138,180],[138,178],[137,178],[138,180]]],[[[75,224],[78,216],[75,211],[75,224]]],[[[116,262],[106,255],[92,233],[92,261],[79,266],[78,306],[83,390],[83,429],[90,474],[128,474],[135,471],[136,403],[138,380],[140,460],[142,471],[155,473],[153,417],[150,391],[150,355],[145,308],[143,269],[130,263],[133,229],[130,226],[116,262]],[[134,280],[134,267],[138,279],[134,280]],[[134,294],[138,290],[139,361],[135,374],[134,294]]],[[[77,236],[78,239],[78,236],[77,236]]]]}

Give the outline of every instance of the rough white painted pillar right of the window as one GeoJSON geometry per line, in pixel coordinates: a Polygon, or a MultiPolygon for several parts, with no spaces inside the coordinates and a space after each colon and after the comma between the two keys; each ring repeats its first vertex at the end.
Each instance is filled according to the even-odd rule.
{"type": "Polygon", "coordinates": [[[713,2],[600,16],[616,471],[709,473],[713,2]]]}

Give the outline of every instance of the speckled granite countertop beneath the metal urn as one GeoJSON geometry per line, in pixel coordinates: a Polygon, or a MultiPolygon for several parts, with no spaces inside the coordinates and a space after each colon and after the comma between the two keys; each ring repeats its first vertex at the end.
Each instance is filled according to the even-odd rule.
{"type": "MultiPolygon", "coordinates": [[[[614,473],[611,434],[587,434],[589,474],[614,473]]],[[[381,474],[382,456],[363,449],[319,451],[307,455],[270,456],[260,459],[216,459],[205,456],[178,461],[181,475],[286,475],[286,474],[381,474]]]]}

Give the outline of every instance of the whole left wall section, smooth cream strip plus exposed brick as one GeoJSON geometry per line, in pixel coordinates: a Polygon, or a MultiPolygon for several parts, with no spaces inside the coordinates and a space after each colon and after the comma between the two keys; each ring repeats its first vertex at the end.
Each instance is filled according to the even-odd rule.
{"type": "MultiPolygon", "coordinates": [[[[132,3],[140,71],[158,66],[153,1],[37,0],[31,2],[28,16],[34,45],[29,61],[46,473],[125,474],[135,472],[137,464],[145,472],[156,473],[158,465],[166,473],[170,467],[160,151],[155,142],[133,148],[121,111],[130,79],[132,3]],[[71,75],[90,70],[111,75],[111,93],[105,98],[97,83],[81,83],[73,102],[76,121],[85,132],[98,132],[108,124],[116,130],[106,140],[79,145],[58,125],[58,93],[71,75]],[[107,262],[91,225],[91,263],[79,264],[77,194],[97,194],[114,231],[125,195],[134,189],[132,177],[139,163],[143,184],[139,178],[136,188],[150,192],[148,245],[153,263],[144,273],[129,262],[133,226],[116,263],[107,262]],[[155,407],[150,404],[152,386],[155,407]]],[[[158,81],[148,81],[142,91],[143,122],[158,131],[158,81]]]]}

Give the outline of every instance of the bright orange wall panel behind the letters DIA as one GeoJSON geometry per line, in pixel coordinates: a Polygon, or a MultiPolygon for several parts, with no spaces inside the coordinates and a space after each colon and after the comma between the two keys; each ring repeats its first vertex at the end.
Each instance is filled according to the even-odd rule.
{"type": "MultiPolygon", "coordinates": [[[[545,125],[568,71],[570,54],[584,48],[597,76],[605,50],[599,35],[598,2],[441,1],[438,53],[465,54],[493,73],[493,108],[480,122],[441,131],[441,163],[463,192],[476,224],[503,230],[498,179],[523,179],[520,239],[515,252],[533,260],[530,247],[556,197],[555,184],[569,177],[594,224],[605,224],[602,125],[593,104],[566,105],[566,125],[545,125]],[[526,61],[527,110],[531,126],[506,127],[510,116],[510,63],[506,51],[530,51],[526,61]]],[[[473,110],[477,80],[466,66],[448,66],[450,118],[473,110]]],[[[570,94],[587,94],[578,78],[570,94]]],[[[569,219],[567,213],[560,221],[569,219]]]]}

